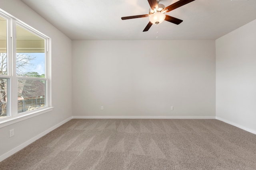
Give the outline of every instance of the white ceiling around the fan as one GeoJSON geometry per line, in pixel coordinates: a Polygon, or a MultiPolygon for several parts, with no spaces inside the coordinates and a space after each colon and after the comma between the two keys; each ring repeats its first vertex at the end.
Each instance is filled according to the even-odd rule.
{"type": "Polygon", "coordinates": [[[256,19],[256,0],[195,0],[166,13],[183,20],[180,25],[164,21],[142,32],[149,18],[121,17],[148,14],[147,0],[21,1],[72,40],[218,39],[256,19]]]}

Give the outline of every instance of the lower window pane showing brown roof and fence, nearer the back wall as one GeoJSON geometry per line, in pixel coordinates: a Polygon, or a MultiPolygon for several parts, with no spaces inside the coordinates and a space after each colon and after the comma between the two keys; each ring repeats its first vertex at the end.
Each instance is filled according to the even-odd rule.
{"type": "Polygon", "coordinates": [[[46,106],[45,80],[18,80],[18,113],[46,106]]]}

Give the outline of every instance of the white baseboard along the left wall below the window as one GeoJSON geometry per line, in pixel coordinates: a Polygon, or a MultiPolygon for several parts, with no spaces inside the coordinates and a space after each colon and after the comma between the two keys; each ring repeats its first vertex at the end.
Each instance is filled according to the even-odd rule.
{"type": "Polygon", "coordinates": [[[61,125],[63,125],[64,123],[70,121],[72,119],[72,117],[58,123],[57,125],[51,127],[50,129],[40,133],[39,135],[33,137],[32,139],[22,143],[21,145],[19,145],[18,147],[6,152],[5,154],[2,154],[0,156],[0,162],[6,158],[8,158],[9,156],[11,156],[12,154],[18,152],[19,150],[23,149],[24,147],[28,146],[29,144],[33,143],[34,141],[36,141],[37,139],[39,139],[40,137],[43,137],[44,135],[46,135],[47,133],[49,133],[50,131],[53,131],[54,129],[56,129],[57,127],[60,127],[61,125]]]}

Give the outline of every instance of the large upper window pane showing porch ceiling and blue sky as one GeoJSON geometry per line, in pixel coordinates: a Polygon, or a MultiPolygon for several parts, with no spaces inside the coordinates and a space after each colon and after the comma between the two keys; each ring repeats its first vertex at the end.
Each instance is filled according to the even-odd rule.
{"type": "Polygon", "coordinates": [[[45,75],[45,40],[16,25],[16,75],[45,75]]]}

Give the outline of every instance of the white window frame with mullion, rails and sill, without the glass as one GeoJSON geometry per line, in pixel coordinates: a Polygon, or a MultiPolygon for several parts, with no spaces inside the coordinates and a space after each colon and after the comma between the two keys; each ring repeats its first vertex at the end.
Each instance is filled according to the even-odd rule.
{"type": "Polygon", "coordinates": [[[40,31],[32,28],[26,23],[14,18],[10,14],[0,9],[0,16],[6,19],[6,53],[7,53],[7,75],[0,75],[0,78],[7,78],[7,107],[6,111],[9,116],[0,119],[0,128],[23,121],[25,119],[52,111],[53,107],[51,104],[51,47],[50,37],[44,35],[40,31]],[[23,77],[16,75],[16,25],[34,33],[38,37],[44,39],[44,60],[45,60],[45,77],[23,77]],[[25,111],[18,113],[18,80],[45,80],[45,107],[34,109],[31,111],[25,111]]]}

